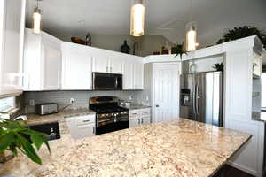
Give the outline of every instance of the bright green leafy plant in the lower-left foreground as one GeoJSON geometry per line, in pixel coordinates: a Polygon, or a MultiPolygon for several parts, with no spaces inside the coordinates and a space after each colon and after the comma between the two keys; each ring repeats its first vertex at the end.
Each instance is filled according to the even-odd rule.
{"type": "Polygon", "coordinates": [[[20,150],[32,161],[42,165],[42,160],[35,149],[40,150],[42,144],[45,143],[50,152],[50,146],[44,135],[25,127],[23,121],[0,119],[0,153],[3,153],[4,150],[10,150],[17,156],[18,150],[20,150]],[[27,140],[26,136],[30,137],[30,141],[27,140]]]}

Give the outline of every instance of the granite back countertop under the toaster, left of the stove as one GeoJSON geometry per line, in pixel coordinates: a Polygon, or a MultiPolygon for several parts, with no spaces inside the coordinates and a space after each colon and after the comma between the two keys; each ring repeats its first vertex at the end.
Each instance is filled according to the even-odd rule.
{"type": "Polygon", "coordinates": [[[91,111],[90,109],[76,109],[76,110],[66,110],[59,113],[54,113],[44,116],[37,114],[27,114],[26,123],[27,125],[51,123],[67,117],[82,116],[88,114],[95,114],[95,112],[91,111]]]}

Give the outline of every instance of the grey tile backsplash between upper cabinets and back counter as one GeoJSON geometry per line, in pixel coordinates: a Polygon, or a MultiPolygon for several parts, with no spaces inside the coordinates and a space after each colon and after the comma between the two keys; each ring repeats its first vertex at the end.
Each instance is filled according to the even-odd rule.
{"type": "Polygon", "coordinates": [[[24,92],[23,104],[25,113],[34,113],[35,106],[30,105],[30,100],[34,100],[35,104],[41,103],[57,103],[59,109],[70,103],[70,99],[74,98],[74,104],[66,109],[88,108],[89,98],[93,96],[118,96],[121,99],[128,100],[129,96],[133,97],[134,102],[141,104],[143,91],[36,91],[24,92]]]}

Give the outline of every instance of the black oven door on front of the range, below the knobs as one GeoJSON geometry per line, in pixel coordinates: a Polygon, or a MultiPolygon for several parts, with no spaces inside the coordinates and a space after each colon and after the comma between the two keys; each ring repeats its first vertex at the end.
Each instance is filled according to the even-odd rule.
{"type": "Polygon", "coordinates": [[[129,116],[117,119],[106,119],[97,122],[96,135],[106,134],[121,129],[129,128],[129,116]]]}

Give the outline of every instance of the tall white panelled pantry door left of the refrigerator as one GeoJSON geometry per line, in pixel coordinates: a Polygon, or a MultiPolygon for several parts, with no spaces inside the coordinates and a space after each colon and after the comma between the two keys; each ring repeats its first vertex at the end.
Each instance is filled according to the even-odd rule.
{"type": "Polygon", "coordinates": [[[154,116],[153,122],[179,117],[178,64],[154,65],[154,116]]]}

